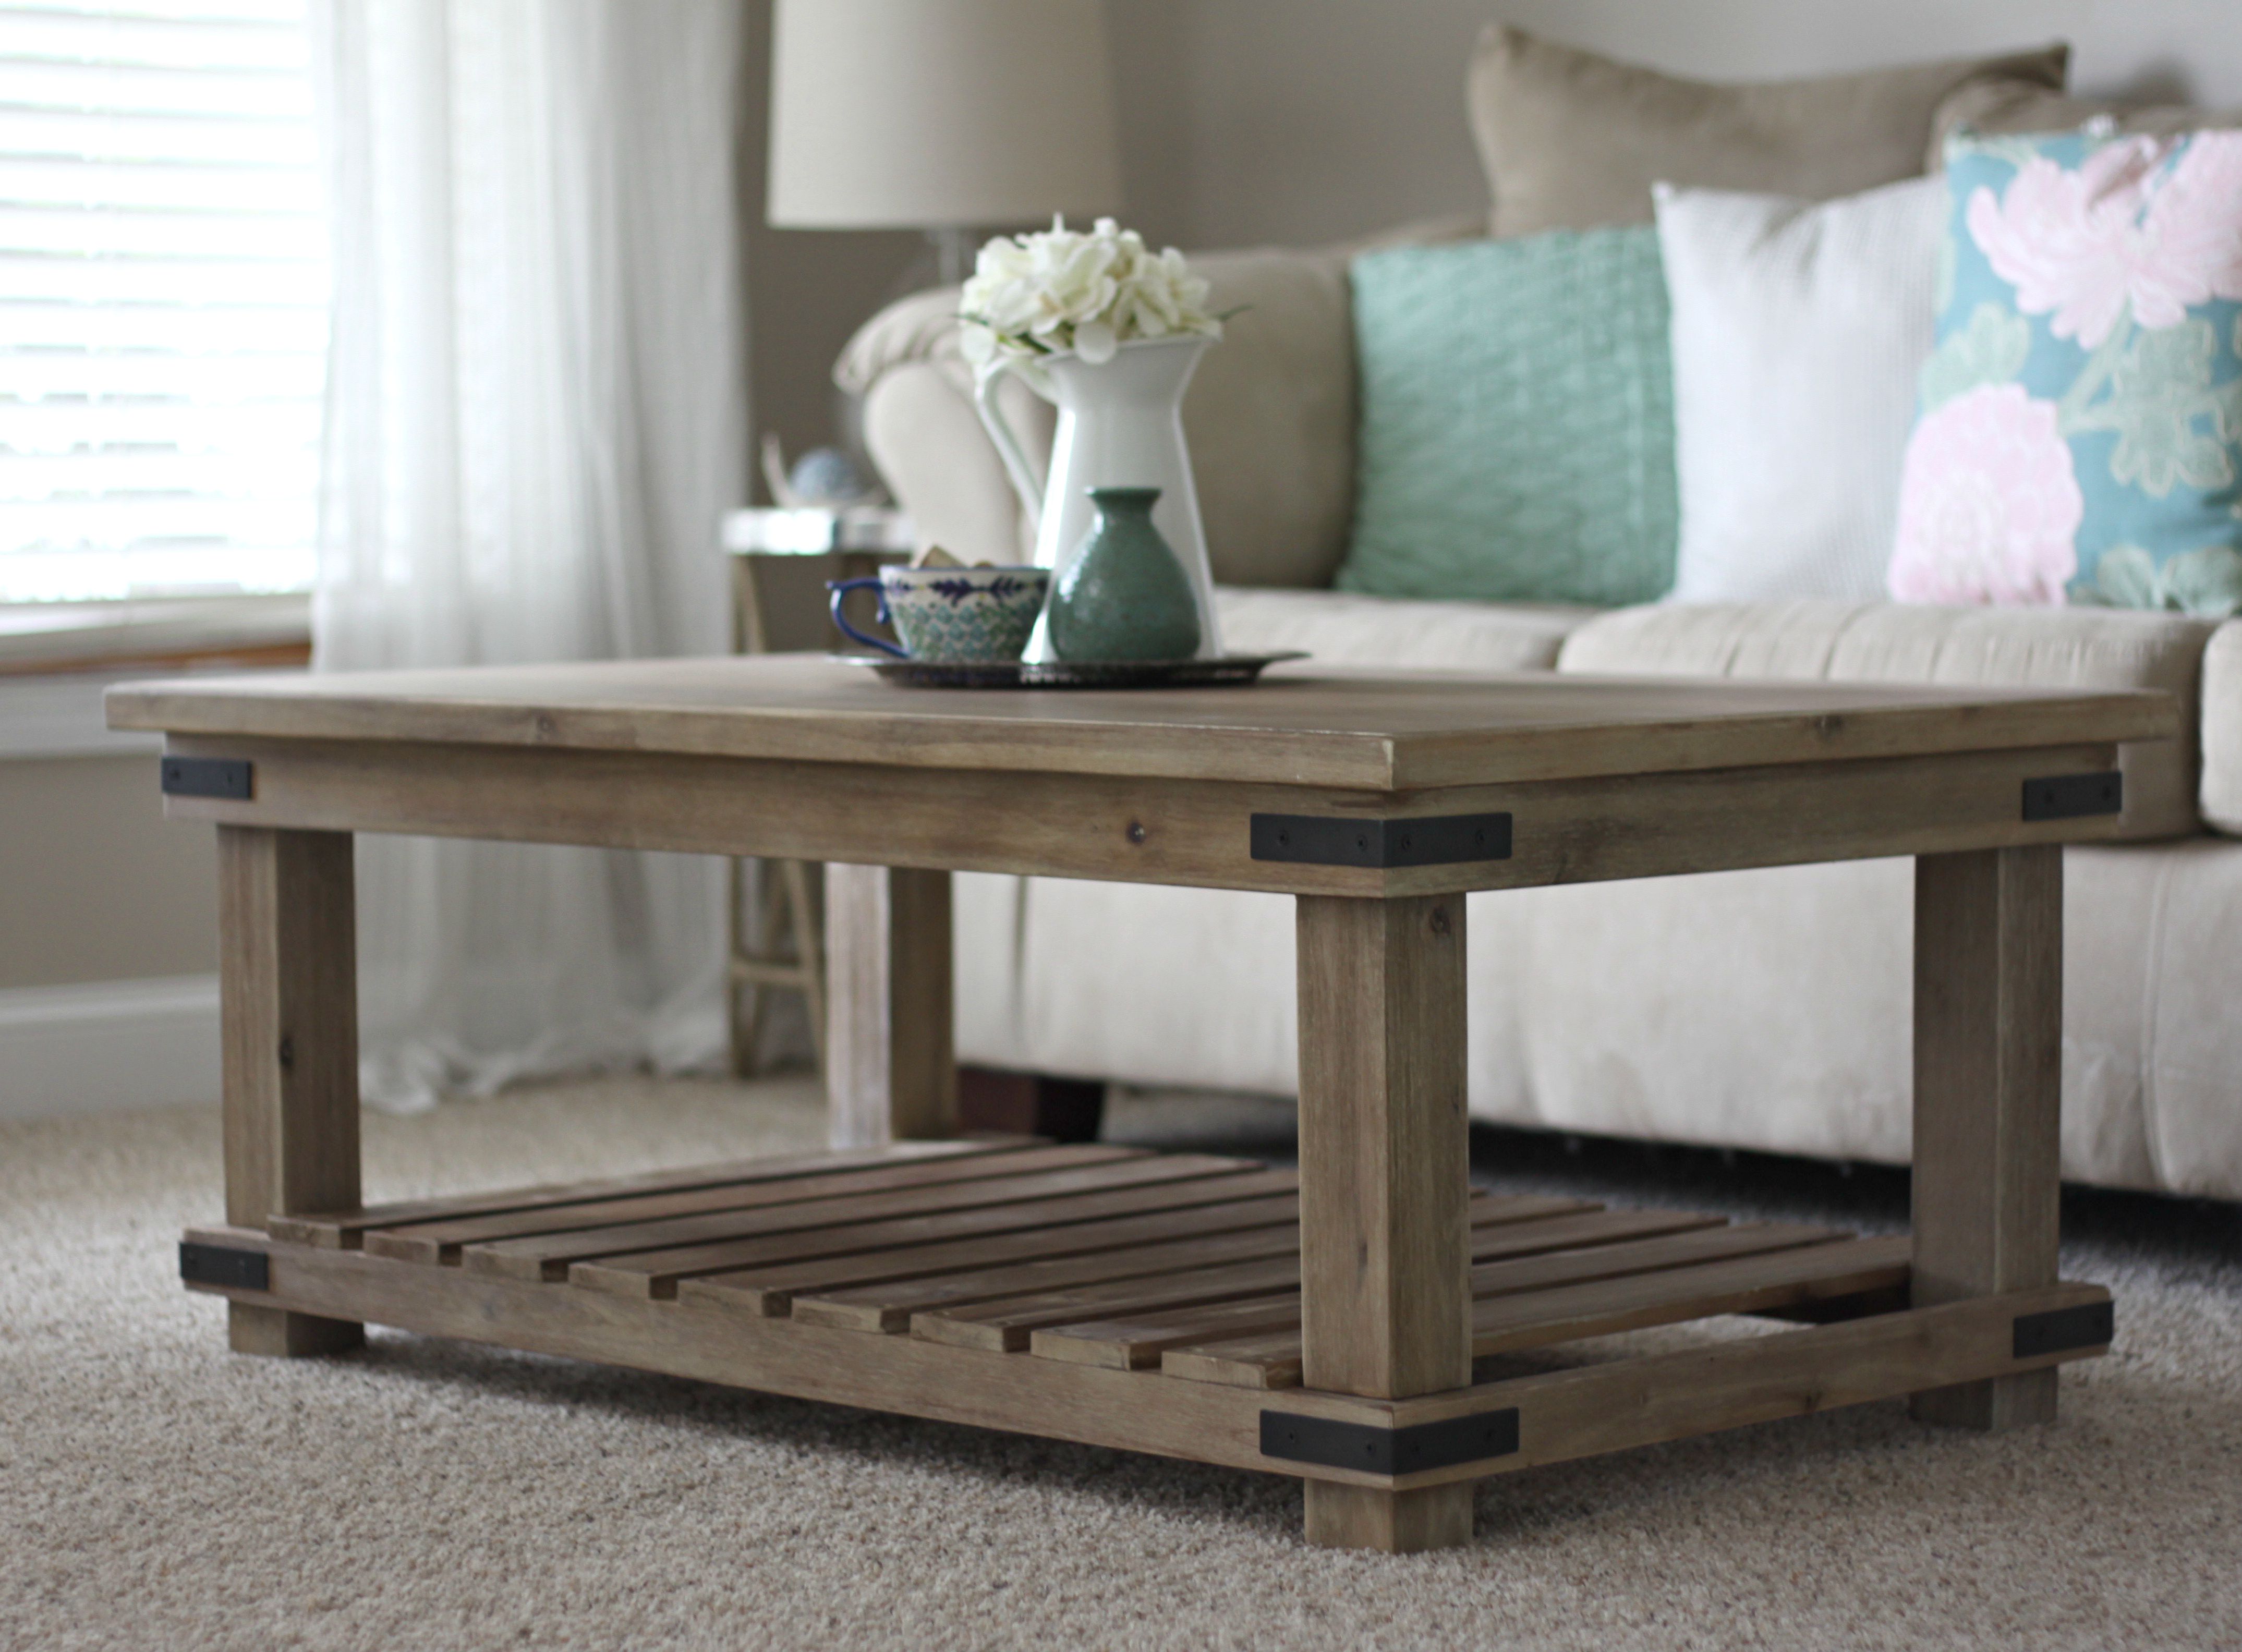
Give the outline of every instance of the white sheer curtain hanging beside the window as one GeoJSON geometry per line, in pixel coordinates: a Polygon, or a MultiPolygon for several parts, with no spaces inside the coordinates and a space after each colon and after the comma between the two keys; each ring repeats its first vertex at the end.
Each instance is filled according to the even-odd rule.
{"type": "MultiPolygon", "coordinates": [[[[715,652],[740,0],[316,0],[323,670],[715,652]]],[[[722,1047],[715,863],[361,838],[365,1094],[722,1047]]]]}

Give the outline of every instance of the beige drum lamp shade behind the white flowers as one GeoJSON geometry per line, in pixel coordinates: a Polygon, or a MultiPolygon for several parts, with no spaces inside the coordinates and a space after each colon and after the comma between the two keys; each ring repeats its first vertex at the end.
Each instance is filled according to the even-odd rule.
{"type": "Polygon", "coordinates": [[[980,229],[1121,204],[1101,0],[778,0],[780,229],[980,229]]]}

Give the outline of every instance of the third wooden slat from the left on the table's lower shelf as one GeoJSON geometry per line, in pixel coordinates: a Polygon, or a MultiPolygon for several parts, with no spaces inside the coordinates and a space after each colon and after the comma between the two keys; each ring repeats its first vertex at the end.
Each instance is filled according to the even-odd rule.
{"type": "Polygon", "coordinates": [[[558,1280],[567,1275],[572,1262],[590,1262],[594,1257],[623,1255],[630,1251],[673,1251],[691,1244],[713,1244],[717,1240],[749,1240],[762,1233],[836,1228],[899,1215],[969,1210],[973,1206],[1047,1199],[1063,1192],[1094,1192],[1101,1188],[1188,1181],[1195,1177],[1231,1175],[1244,1168],[1249,1168],[1244,1159],[1146,1154],[1137,1159],[1078,1163],[1069,1170],[1047,1170],[1043,1175],[989,1177],[980,1181],[910,1188],[906,1192],[865,1192],[850,1199],[809,1199],[767,1210],[717,1210],[713,1215],[677,1217],[675,1222],[632,1222],[587,1233],[498,1240],[491,1244],[466,1246],[466,1251],[462,1251],[462,1264],[475,1269],[478,1273],[500,1273],[516,1280],[558,1280]]]}

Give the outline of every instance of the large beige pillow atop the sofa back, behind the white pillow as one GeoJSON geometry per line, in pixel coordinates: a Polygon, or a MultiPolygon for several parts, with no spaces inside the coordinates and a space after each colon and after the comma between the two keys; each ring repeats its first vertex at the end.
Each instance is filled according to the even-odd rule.
{"type": "Polygon", "coordinates": [[[1912,63],[1818,81],[1711,85],[1489,25],[1471,130],[1495,235],[1648,224],[1655,182],[1805,199],[1924,170],[1933,117],[1973,81],[2056,90],[2069,47],[1912,63]]]}

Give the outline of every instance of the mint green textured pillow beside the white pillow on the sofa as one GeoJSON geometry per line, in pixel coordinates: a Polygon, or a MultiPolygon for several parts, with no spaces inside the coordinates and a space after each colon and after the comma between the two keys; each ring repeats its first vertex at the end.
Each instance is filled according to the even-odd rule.
{"type": "Polygon", "coordinates": [[[1657,601],[1677,495],[1652,224],[1354,260],[1354,540],[1338,590],[1657,601]]]}

